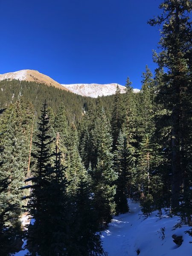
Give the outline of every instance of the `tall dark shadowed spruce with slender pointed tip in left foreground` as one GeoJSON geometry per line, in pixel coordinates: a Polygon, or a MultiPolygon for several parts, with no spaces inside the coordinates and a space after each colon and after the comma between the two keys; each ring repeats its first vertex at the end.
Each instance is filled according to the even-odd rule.
{"type": "MultiPolygon", "coordinates": [[[[47,215],[47,204],[49,202],[49,182],[51,175],[49,149],[52,141],[49,136],[49,117],[47,115],[47,104],[43,105],[41,119],[38,123],[38,140],[35,142],[37,152],[34,157],[37,159],[37,166],[34,176],[31,178],[32,190],[30,201],[27,205],[30,215],[35,219],[35,223],[29,224],[28,227],[28,247],[33,253],[46,255],[45,251],[49,248],[50,241],[47,241],[47,221],[50,216],[47,215]]],[[[50,238],[51,239],[51,238],[50,238]]]]}

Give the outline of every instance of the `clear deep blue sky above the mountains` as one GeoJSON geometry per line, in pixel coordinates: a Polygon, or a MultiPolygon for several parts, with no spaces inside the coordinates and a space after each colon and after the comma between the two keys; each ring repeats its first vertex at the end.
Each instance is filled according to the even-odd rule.
{"type": "Polygon", "coordinates": [[[34,69],[59,83],[140,88],[162,0],[0,0],[0,74],[34,69]]]}

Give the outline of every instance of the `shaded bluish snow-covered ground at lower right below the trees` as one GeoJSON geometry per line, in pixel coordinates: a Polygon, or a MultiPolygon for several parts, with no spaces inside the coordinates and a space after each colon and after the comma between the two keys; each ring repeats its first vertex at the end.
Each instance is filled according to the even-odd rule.
{"type": "Polygon", "coordinates": [[[137,250],[140,256],[192,256],[192,237],[184,233],[190,228],[175,228],[179,223],[177,216],[163,215],[160,219],[153,212],[144,219],[139,204],[131,200],[128,204],[130,212],[114,217],[108,230],[102,233],[103,247],[109,256],[137,256],[137,250]],[[173,234],[183,236],[180,247],[173,242],[173,234]]]}

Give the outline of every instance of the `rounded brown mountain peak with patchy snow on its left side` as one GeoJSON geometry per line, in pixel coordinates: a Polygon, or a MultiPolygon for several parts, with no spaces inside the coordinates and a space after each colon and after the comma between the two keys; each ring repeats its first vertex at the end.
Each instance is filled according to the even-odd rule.
{"type": "Polygon", "coordinates": [[[54,86],[56,88],[59,88],[61,90],[67,90],[69,89],[65,88],[49,76],[46,76],[37,70],[19,70],[16,72],[9,72],[0,75],[0,81],[4,79],[18,79],[20,81],[30,81],[30,82],[36,82],[36,83],[42,83],[47,84],[48,86],[54,86]]]}

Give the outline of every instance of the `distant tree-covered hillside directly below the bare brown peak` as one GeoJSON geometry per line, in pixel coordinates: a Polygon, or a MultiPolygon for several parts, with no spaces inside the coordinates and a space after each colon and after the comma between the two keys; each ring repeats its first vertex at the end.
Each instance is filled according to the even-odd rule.
{"type": "MultiPolygon", "coordinates": [[[[96,102],[96,99],[77,95],[70,91],[61,90],[53,86],[47,87],[46,84],[37,82],[3,80],[0,81],[0,108],[8,108],[11,103],[23,96],[24,99],[31,102],[38,115],[43,102],[47,101],[53,111],[57,111],[58,106],[64,103],[67,119],[69,122],[79,122],[84,110],[87,111],[90,102],[96,102]]],[[[104,109],[111,108],[113,105],[113,95],[101,97],[104,109]]]]}

